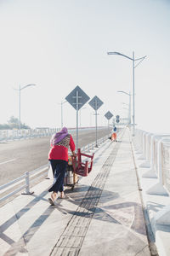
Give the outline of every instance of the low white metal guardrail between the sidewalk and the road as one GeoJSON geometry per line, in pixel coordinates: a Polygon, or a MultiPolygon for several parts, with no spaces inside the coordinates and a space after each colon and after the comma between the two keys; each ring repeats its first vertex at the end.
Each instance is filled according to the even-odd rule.
{"type": "MultiPolygon", "coordinates": [[[[104,143],[105,140],[108,139],[108,135],[105,137],[101,137],[98,139],[98,145],[101,143],[104,143]]],[[[83,152],[87,152],[95,148],[96,143],[89,143],[88,145],[81,148],[83,152]]],[[[32,172],[25,172],[24,175],[21,177],[18,177],[14,179],[13,181],[6,183],[2,186],[0,186],[1,193],[4,194],[2,198],[0,198],[0,203],[7,200],[12,195],[16,195],[21,190],[25,189],[25,192],[22,193],[22,195],[31,195],[33,194],[33,191],[31,192],[31,183],[37,181],[41,177],[48,177],[48,169],[49,164],[45,166],[41,166],[40,168],[32,171],[32,172]],[[24,183],[24,184],[23,184],[24,183]],[[20,186],[20,187],[19,187],[20,186]],[[18,187],[17,189],[14,189],[14,187],[18,187]],[[12,192],[8,193],[7,191],[11,189],[14,189],[12,192]],[[7,194],[8,193],[8,194],[7,194]]]]}

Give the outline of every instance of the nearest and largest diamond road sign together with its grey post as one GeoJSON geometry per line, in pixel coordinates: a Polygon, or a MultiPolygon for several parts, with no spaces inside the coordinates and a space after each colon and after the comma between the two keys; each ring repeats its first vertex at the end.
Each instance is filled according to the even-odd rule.
{"type": "Polygon", "coordinates": [[[65,97],[65,100],[77,110],[77,150],[78,150],[78,110],[88,102],[89,96],[77,85],[71,93],[65,97]]]}

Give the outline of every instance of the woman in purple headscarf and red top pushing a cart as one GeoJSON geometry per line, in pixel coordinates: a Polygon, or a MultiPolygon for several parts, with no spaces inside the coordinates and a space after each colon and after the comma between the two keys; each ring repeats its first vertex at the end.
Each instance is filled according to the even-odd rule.
{"type": "Polygon", "coordinates": [[[65,171],[68,164],[68,148],[71,148],[73,156],[75,154],[75,143],[71,134],[68,133],[67,128],[55,133],[50,140],[51,149],[48,153],[48,160],[50,161],[53,173],[54,183],[48,192],[52,192],[51,198],[48,201],[54,206],[58,192],[60,192],[60,198],[64,198],[64,178],[65,171]]]}

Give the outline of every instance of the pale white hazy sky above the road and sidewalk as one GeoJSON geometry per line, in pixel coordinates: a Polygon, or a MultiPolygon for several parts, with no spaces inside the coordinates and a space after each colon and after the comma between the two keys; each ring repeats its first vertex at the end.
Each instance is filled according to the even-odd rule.
{"type": "MultiPolygon", "coordinates": [[[[132,61],[107,51],[147,58],[135,69],[135,118],[145,131],[170,132],[169,0],[0,0],[0,124],[19,117],[31,127],[60,126],[59,102],[79,85],[103,102],[105,113],[127,115],[122,102],[133,92],[132,61]]],[[[132,102],[133,103],[133,102],[132,102]]],[[[82,126],[94,125],[86,104],[82,126]]],[[[63,106],[64,125],[76,110],[63,106]]]]}

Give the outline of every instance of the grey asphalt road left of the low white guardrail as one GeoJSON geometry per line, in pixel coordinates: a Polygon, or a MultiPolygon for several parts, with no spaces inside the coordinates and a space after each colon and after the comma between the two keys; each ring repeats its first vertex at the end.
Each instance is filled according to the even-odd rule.
{"type": "MultiPolygon", "coordinates": [[[[99,129],[98,138],[108,134],[108,130],[99,129]]],[[[76,144],[76,131],[71,131],[76,144]]],[[[0,143],[0,185],[31,172],[48,163],[50,137],[38,137],[19,141],[0,143]]],[[[79,131],[79,148],[95,141],[94,130],[79,131]]]]}

